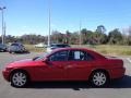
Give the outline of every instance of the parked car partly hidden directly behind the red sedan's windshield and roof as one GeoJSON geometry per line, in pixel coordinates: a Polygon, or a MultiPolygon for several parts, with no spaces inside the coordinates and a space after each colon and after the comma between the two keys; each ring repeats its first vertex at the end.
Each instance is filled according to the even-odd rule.
{"type": "Polygon", "coordinates": [[[70,46],[68,44],[51,44],[47,47],[47,52],[51,52],[53,49],[58,48],[69,48],[70,46]]]}

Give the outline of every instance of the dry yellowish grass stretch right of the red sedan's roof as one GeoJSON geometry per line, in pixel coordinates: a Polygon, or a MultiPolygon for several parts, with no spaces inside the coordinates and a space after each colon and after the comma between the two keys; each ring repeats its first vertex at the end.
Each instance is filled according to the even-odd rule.
{"type": "MultiPolygon", "coordinates": [[[[73,46],[76,47],[76,46],[73,46]]],[[[81,47],[93,49],[99,53],[108,56],[131,56],[131,46],[118,46],[118,45],[98,45],[98,46],[85,46],[81,47]]]]}

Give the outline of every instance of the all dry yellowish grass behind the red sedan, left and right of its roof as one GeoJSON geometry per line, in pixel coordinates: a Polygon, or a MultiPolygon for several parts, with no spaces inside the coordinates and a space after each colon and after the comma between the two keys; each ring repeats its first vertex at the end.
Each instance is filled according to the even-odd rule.
{"type": "MultiPolygon", "coordinates": [[[[118,45],[72,45],[71,47],[82,47],[90,48],[99,53],[108,54],[108,56],[131,56],[131,46],[118,46],[118,45]]],[[[45,52],[46,48],[35,48],[33,45],[25,45],[25,48],[29,51],[34,52],[45,52]]]]}

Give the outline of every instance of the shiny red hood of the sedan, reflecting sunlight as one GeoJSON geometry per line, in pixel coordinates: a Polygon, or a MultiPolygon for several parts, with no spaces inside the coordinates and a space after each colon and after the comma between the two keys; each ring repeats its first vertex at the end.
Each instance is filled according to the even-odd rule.
{"type": "Polygon", "coordinates": [[[23,66],[36,66],[36,65],[46,65],[43,61],[33,61],[32,59],[25,59],[20,61],[14,61],[8,64],[8,68],[23,68],[23,66]]]}

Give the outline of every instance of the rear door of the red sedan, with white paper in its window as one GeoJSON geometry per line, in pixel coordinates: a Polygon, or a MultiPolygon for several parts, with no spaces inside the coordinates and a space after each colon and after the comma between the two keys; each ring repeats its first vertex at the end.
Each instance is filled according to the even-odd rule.
{"type": "Polygon", "coordinates": [[[93,63],[94,58],[86,51],[71,50],[69,54],[69,62],[66,68],[68,79],[87,81],[93,63]]]}

